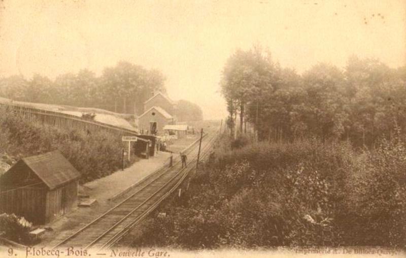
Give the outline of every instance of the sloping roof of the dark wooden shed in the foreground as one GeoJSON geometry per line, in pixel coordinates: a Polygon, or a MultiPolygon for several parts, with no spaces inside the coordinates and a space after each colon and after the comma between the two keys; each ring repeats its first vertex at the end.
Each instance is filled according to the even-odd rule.
{"type": "Polygon", "coordinates": [[[24,157],[22,161],[50,188],[78,179],[81,174],[59,150],[24,157]]]}

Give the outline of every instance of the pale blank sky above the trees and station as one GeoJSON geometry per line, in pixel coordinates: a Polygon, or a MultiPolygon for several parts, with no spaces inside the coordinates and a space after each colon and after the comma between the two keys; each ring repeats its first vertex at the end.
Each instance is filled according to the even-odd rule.
{"type": "Polygon", "coordinates": [[[345,66],[376,57],[406,61],[406,2],[2,0],[0,76],[54,78],[119,60],[159,69],[168,95],[195,102],[205,118],[226,114],[221,70],[237,48],[259,43],[282,67],[345,66]]]}

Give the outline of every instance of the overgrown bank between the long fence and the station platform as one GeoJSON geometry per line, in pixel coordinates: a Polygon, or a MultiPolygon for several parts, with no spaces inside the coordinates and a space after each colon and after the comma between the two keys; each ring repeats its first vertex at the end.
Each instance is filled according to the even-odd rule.
{"type": "MultiPolygon", "coordinates": [[[[7,108],[2,108],[0,113],[1,152],[16,159],[58,149],[81,172],[81,182],[107,176],[122,167],[124,146],[117,135],[87,134],[27,121],[7,108]]],[[[131,157],[131,163],[136,159],[131,157]]],[[[125,166],[129,164],[126,162],[125,166]]]]}

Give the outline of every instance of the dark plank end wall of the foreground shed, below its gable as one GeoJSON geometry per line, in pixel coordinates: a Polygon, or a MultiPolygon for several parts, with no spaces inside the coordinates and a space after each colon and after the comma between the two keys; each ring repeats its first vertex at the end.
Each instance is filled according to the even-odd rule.
{"type": "Polygon", "coordinates": [[[0,213],[24,216],[30,222],[45,222],[45,187],[25,187],[11,190],[12,187],[2,186],[0,192],[0,213]]]}

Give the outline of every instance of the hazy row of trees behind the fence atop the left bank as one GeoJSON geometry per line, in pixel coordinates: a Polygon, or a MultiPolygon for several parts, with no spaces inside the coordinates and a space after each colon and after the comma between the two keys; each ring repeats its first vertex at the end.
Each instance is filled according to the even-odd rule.
{"type": "Polygon", "coordinates": [[[55,80],[39,74],[29,80],[21,75],[2,78],[0,95],[16,101],[96,107],[140,115],[144,101],[154,91],[166,91],[164,82],[160,71],[120,61],[115,67],[104,69],[101,76],[85,69],[55,80]]]}

